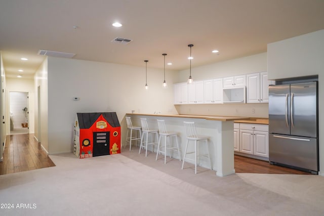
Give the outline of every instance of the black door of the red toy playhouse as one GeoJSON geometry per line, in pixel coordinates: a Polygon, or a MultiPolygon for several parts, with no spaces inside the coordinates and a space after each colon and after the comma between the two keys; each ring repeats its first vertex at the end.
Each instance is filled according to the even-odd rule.
{"type": "Polygon", "coordinates": [[[109,153],[109,132],[93,133],[93,156],[107,155],[109,153]]]}

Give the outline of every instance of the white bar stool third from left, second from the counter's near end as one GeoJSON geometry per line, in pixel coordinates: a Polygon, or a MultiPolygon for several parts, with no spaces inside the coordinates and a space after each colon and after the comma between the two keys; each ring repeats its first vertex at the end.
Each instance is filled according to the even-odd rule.
{"type": "MultiPolygon", "coordinates": [[[[167,161],[167,150],[175,150],[178,151],[179,154],[179,160],[181,161],[181,153],[180,153],[180,148],[179,148],[179,144],[178,144],[178,135],[176,132],[168,132],[167,131],[167,127],[165,124],[164,120],[158,120],[157,119],[157,125],[158,125],[158,133],[159,133],[159,138],[158,138],[158,145],[157,145],[157,151],[156,151],[156,158],[155,160],[157,160],[157,155],[158,153],[164,153],[164,164],[166,164],[167,161]],[[164,142],[164,146],[160,146],[161,143],[161,137],[164,137],[165,142],[164,142]],[[167,138],[169,137],[170,142],[169,142],[169,146],[167,146],[167,138]],[[172,138],[175,138],[177,146],[176,147],[172,147],[172,138]],[[161,151],[160,148],[163,147],[164,151],[161,151]]],[[[171,151],[170,151],[170,158],[171,158],[171,151]]]]}

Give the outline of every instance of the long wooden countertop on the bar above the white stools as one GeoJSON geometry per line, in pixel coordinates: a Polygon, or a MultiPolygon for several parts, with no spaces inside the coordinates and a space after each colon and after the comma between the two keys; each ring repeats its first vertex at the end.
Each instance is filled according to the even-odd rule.
{"type": "Polygon", "coordinates": [[[144,114],[144,113],[126,113],[126,115],[147,115],[147,116],[163,116],[163,117],[178,117],[178,118],[202,118],[214,121],[236,121],[249,120],[249,117],[234,117],[234,116],[210,116],[210,115],[165,115],[165,114],[144,114]]]}

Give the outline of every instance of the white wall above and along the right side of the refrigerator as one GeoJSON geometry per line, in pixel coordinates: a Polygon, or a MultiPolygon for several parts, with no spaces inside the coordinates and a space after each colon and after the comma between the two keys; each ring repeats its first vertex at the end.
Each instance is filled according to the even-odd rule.
{"type": "Polygon", "coordinates": [[[324,176],[324,30],[268,45],[270,79],[318,74],[319,168],[324,176]]]}

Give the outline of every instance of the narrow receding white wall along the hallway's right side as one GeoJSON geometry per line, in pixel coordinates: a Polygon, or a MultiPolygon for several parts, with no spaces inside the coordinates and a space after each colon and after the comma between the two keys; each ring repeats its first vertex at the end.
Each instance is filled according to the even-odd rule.
{"type": "MultiPolygon", "coordinates": [[[[34,92],[35,92],[35,138],[38,142],[41,142],[43,148],[49,152],[49,131],[48,131],[48,61],[47,58],[44,62],[39,66],[35,75],[34,75],[34,92]],[[40,103],[40,110],[38,112],[38,93],[37,88],[41,88],[41,103],[40,103]],[[38,113],[40,114],[38,116],[38,113]],[[38,125],[38,118],[41,119],[41,125],[38,125]],[[40,133],[39,133],[39,132],[40,133]]],[[[57,84],[59,86],[59,82],[57,84]]],[[[55,100],[55,99],[53,99],[55,100]]]]}

